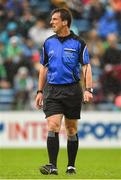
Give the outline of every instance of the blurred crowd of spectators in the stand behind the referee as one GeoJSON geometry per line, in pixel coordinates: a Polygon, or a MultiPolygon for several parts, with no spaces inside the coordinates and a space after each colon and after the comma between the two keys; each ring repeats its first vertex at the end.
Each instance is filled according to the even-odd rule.
{"type": "Polygon", "coordinates": [[[121,0],[0,0],[0,110],[35,110],[40,53],[56,7],[88,46],[94,100],[85,110],[121,110],[121,0]]]}

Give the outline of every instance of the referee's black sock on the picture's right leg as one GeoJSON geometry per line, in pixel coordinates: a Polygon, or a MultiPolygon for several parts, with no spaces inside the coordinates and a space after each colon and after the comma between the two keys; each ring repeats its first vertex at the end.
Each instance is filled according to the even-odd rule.
{"type": "Polygon", "coordinates": [[[78,135],[68,137],[67,141],[67,153],[68,153],[68,166],[75,165],[76,154],[78,150],[78,135]]]}

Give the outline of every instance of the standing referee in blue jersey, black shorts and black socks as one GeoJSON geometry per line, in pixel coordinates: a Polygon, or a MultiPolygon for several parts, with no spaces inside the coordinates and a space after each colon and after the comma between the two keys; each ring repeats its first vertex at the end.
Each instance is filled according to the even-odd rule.
{"type": "Polygon", "coordinates": [[[50,24],[55,34],[46,39],[41,56],[36,107],[41,108],[48,123],[47,150],[49,164],[40,167],[42,174],[58,174],[59,131],[62,119],[67,131],[67,174],[75,174],[78,150],[77,119],[82,100],[93,98],[92,73],[85,42],[70,30],[71,14],[55,9],[50,24]],[[84,92],[80,87],[84,82],[84,92]]]}

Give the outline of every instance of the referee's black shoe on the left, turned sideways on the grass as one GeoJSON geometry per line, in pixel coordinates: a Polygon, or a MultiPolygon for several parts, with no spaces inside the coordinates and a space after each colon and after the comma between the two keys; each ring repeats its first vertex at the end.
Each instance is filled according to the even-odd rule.
{"type": "Polygon", "coordinates": [[[47,164],[47,165],[41,166],[40,172],[45,175],[48,175],[48,174],[58,175],[58,170],[53,164],[47,164]]]}

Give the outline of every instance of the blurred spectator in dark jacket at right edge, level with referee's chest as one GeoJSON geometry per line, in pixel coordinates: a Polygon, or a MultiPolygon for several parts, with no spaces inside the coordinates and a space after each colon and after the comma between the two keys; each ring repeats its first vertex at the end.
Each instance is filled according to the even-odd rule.
{"type": "Polygon", "coordinates": [[[121,89],[121,50],[117,47],[118,38],[116,34],[107,36],[109,47],[102,57],[102,67],[104,68],[102,85],[104,94],[119,93],[121,89]]]}

